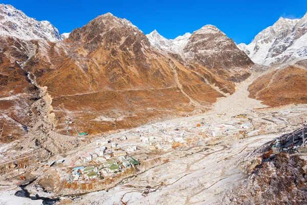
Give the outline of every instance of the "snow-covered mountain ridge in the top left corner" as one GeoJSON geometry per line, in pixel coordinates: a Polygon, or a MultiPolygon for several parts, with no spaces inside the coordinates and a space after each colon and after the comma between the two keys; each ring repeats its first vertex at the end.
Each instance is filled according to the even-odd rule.
{"type": "Polygon", "coordinates": [[[20,39],[43,39],[52,42],[64,39],[47,20],[37,21],[11,5],[0,5],[0,35],[20,39]]]}

